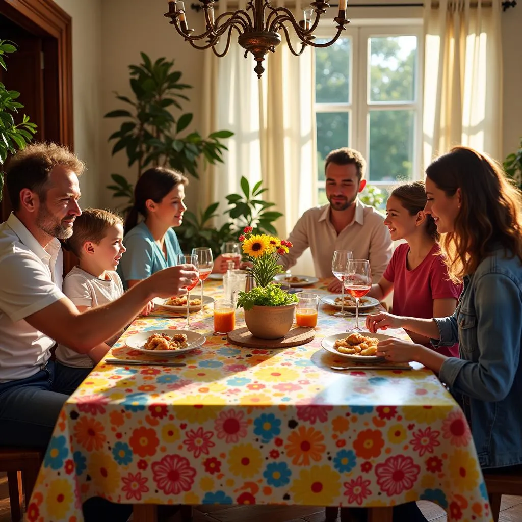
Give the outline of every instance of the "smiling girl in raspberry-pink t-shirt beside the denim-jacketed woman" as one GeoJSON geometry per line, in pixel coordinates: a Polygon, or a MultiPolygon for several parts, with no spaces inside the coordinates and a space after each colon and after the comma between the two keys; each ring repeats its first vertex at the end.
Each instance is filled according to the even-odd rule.
{"type": "MultiPolygon", "coordinates": [[[[392,240],[406,240],[390,259],[383,277],[368,293],[383,300],[392,290],[393,313],[409,317],[447,317],[455,312],[462,290],[449,280],[438,246],[437,227],[424,213],[424,182],[399,185],[386,203],[386,219],[392,240]]],[[[433,348],[427,337],[408,331],[414,342],[433,348]]],[[[444,355],[458,357],[458,345],[439,348],[444,355]]]]}

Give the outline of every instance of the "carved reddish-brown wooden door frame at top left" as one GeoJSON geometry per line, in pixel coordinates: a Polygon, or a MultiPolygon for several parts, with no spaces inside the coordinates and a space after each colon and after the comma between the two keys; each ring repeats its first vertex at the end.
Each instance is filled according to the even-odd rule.
{"type": "Polygon", "coordinates": [[[74,150],[72,18],[53,0],[0,0],[0,14],[33,34],[56,39],[60,143],[74,150]]]}

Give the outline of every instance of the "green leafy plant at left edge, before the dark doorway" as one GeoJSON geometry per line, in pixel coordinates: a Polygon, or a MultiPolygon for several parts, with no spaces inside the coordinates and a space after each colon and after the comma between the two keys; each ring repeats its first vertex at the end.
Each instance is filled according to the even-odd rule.
{"type": "MultiPolygon", "coordinates": [[[[13,42],[0,40],[0,66],[7,70],[4,55],[14,53],[16,47],[13,42]]],[[[0,83],[0,165],[5,163],[9,153],[15,154],[17,150],[25,146],[33,138],[36,124],[29,121],[29,116],[24,114],[22,121],[15,124],[13,114],[18,113],[23,105],[15,101],[20,96],[18,91],[9,91],[5,85],[0,83]]],[[[4,186],[4,172],[0,170],[0,201],[2,200],[2,188],[4,186]]]]}

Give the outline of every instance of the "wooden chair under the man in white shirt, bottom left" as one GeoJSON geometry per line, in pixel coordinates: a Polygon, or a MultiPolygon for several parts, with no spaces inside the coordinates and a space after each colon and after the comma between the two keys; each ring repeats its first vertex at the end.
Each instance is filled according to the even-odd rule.
{"type": "Polygon", "coordinates": [[[31,497],[38,471],[43,460],[41,449],[0,447],[0,471],[7,472],[11,520],[18,522],[23,513],[23,491],[26,507],[31,497]]]}

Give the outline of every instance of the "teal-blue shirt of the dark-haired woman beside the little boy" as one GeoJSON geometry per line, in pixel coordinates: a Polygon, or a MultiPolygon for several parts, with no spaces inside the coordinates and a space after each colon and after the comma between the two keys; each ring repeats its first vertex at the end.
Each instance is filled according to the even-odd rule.
{"type": "Polygon", "coordinates": [[[127,281],[146,279],[158,270],[177,265],[177,255],[182,254],[179,241],[174,229],[170,228],[165,234],[165,248],[167,259],[163,255],[145,222],[141,222],[123,238],[127,249],[120,259],[116,271],[127,290],[127,281]]]}

